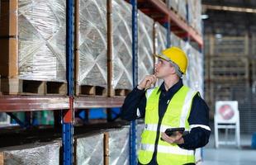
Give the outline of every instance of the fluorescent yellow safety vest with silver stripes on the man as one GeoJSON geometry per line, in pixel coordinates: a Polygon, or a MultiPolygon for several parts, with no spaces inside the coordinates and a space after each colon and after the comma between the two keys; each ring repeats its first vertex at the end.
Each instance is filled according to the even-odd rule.
{"type": "MultiPolygon", "coordinates": [[[[183,86],[175,93],[168,103],[167,111],[164,114],[160,133],[168,128],[184,127],[189,130],[187,121],[191,111],[192,99],[197,92],[189,87],[183,86]]],[[[141,145],[139,151],[139,162],[147,164],[153,157],[154,143],[157,135],[159,123],[159,87],[155,87],[146,93],[147,104],[145,108],[145,130],[141,134],[141,145]]],[[[195,151],[178,147],[177,144],[168,144],[158,139],[157,163],[159,165],[179,165],[185,163],[195,163],[195,151]]]]}

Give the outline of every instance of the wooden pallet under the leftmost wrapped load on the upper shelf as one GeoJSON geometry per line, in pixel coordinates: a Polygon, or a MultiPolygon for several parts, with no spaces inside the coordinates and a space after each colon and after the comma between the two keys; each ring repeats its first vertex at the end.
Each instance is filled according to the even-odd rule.
{"type": "Polygon", "coordinates": [[[45,82],[2,78],[1,92],[5,95],[66,95],[66,82],[45,82]]]}

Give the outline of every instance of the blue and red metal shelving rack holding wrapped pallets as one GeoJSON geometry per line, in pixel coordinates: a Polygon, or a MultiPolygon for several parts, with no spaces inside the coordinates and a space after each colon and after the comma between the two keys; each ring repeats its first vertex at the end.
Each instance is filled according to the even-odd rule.
{"type": "MultiPolygon", "coordinates": [[[[57,96],[0,96],[0,112],[16,111],[53,111],[62,112],[62,141],[64,165],[73,164],[73,116],[75,109],[112,108],[121,107],[125,97],[74,97],[73,92],[73,24],[74,1],[67,0],[67,82],[68,94],[66,97],[57,96]]],[[[128,1],[128,0],[126,0],[128,1]]],[[[168,29],[168,43],[170,45],[170,31],[182,38],[196,42],[202,47],[202,37],[188,26],[178,15],[168,9],[160,0],[130,0],[132,5],[132,54],[133,54],[133,86],[138,83],[138,9],[146,15],[159,21],[168,29]]],[[[136,121],[130,122],[130,164],[136,164],[136,121]]]]}

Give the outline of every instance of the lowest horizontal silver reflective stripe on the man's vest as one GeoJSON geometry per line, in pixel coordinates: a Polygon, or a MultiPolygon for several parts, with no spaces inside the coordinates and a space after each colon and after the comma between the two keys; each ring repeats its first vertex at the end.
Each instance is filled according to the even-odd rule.
{"type": "MultiPolygon", "coordinates": [[[[141,150],[154,152],[154,144],[141,144],[140,145],[141,150]]],[[[158,152],[159,153],[171,153],[171,154],[179,154],[179,155],[188,155],[193,156],[194,150],[187,150],[183,148],[173,147],[173,146],[164,146],[164,145],[158,145],[158,152]]]]}

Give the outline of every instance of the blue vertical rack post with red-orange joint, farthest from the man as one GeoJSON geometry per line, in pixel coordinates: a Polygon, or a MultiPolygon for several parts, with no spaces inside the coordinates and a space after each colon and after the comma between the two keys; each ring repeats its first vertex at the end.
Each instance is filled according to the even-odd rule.
{"type": "Polygon", "coordinates": [[[74,0],[66,0],[66,76],[68,83],[69,110],[62,118],[63,164],[73,164],[73,7],[74,0]]]}

